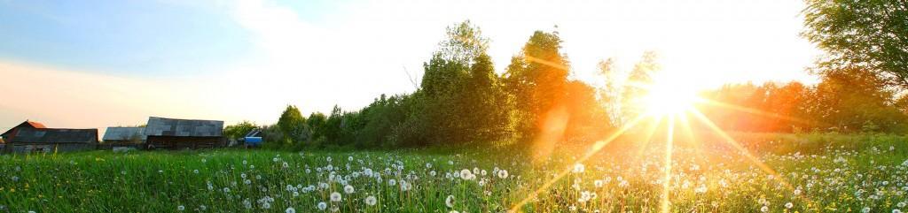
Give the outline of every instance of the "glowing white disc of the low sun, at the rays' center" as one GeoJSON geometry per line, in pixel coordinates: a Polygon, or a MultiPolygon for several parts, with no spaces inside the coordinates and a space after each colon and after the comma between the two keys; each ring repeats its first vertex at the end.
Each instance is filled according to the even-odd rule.
{"type": "Polygon", "coordinates": [[[647,86],[642,104],[653,116],[684,113],[693,108],[696,91],[685,82],[659,79],[647,86]]]}

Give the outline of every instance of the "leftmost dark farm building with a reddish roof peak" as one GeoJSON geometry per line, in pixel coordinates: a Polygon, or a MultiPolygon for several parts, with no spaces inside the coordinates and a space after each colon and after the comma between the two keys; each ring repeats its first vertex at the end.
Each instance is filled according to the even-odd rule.
{"type": "Polygon", "coordinates": [[[98,145],[98,129],[51,129],[35,121],[25,121],[0,134],[3,152],[51,152],[94,150],[98,145]]]}

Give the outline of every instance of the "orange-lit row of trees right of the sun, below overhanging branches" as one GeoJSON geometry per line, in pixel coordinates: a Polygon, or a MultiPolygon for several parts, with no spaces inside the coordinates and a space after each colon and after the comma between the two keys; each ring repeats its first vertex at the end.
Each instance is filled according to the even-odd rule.
{"type": "Polygon", "coordinates": [[[908,131],[908,98],[862,69],[827,71],[821,82],[729,84],[701,94],[697,109],[727,131],[908,131]],[[712,102],[712,103],[710,103],[712,102]]]}

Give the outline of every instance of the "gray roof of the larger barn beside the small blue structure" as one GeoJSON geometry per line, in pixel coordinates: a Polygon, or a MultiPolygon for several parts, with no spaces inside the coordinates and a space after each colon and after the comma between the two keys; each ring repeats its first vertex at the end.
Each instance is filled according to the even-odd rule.
{"type": "Polygon", "coordinates": [[[149,117],[147,136],[221,137],[224,121],[183,120],[149,117]]]}

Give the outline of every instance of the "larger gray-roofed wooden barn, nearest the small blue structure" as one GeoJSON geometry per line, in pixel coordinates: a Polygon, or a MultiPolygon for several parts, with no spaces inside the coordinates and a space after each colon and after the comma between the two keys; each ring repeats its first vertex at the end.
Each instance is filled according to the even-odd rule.
{"type": "Polygon", "coordinates": [[[184,150],[223,147],[223,121],[150,117],[145,125],[149,150],[184,150]]]}

